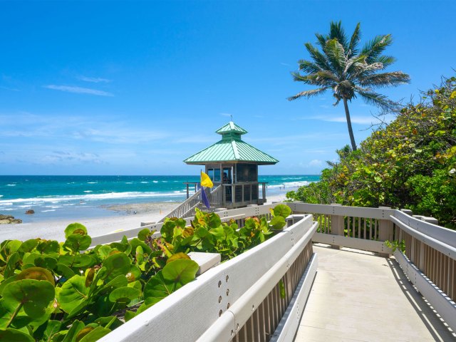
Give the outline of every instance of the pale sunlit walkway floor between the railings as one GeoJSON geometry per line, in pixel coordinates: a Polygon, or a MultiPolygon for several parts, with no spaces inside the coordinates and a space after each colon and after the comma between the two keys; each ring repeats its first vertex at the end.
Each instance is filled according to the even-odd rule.
{"type": "Polygon", "coordinates": [[[295,341],[456,341],[394,258],[314,245],[318,271],[295,341]]]}

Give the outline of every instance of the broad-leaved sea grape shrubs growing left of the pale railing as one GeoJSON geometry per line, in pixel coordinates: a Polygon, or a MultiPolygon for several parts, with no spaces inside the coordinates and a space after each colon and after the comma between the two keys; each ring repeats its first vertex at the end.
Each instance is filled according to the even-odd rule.
{"type": "Polygon", "coordinates": [[[218,252],[222,261],[261,244],[285,225],[291,209],[272,219],[249,217],[244,227],[197,209],[166,219],[160,235],[98,245],[83,224],[65,229],[65,242],[6,240],[0,244],[0,341],[90,342],[105,336],[195,279],[189,252],[218,252]]]}

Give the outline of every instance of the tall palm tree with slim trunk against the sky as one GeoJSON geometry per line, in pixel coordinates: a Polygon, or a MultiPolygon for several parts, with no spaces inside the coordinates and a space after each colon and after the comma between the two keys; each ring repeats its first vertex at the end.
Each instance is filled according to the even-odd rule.
{"type": "Polygon", "coordinates": [[[304,90],[289,100],[296,98],[310,98],[311,96],[324,93],[328,89],[333,90],[336,103],[342,100],[350,135],[351,147],[356,150],[356,142],[351,128],[350,111],[348,101],[360,95],[369,105],[375,105],[382,110],[393,110],[397,103],[389,100],[385,95],[376,93],[373,88],[398,86],[410,81],[410,76],[402,71],[379,72],[395,62],[392,56],[383,56],[387,46],[393,42],[390,34],[376,36],[361,48],[358,47],[361,31],[360,23],[348,41],[341,21],[332,21],[328,35],[316,33],[317,44],[321,51],[311,43],[306,43],[312,61],[301,60],[299,72],[291,73],[294,81],[303,82],[316,89],[304,90]]]}

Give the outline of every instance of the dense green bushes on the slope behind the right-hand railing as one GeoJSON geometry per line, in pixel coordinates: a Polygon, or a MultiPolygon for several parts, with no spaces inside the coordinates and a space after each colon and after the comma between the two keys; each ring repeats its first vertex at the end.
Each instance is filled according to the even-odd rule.
{"type": "Polygon", "coordinates": [[[393,122],[337,151],[321,181],[288,192],[308,203],[407,208],[456,229],[456,78],[422,93],[393,122]]]}

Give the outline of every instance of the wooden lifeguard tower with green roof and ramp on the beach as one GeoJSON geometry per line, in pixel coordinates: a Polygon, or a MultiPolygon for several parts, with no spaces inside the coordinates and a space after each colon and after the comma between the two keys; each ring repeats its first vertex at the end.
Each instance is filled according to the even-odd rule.
{"type": "Polygon", "coordinates": [[[266,182],[258,181],[258,165],[274,165],[279,160],[242,140],[247,130],[230,121],[215,133],[222,135],[218,142],[184,160],[189,165],[204,165],[214,187],[206,189],[210,208],[201,202],[198,182],[187,182],[187,200],[173,210],[169,217],[191,217],[195,207],[203,211],[218,208],[239,208],[266,202],[266,182]],[[190,196],[190,190],[195,193],[190,196]]]}

